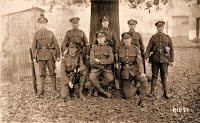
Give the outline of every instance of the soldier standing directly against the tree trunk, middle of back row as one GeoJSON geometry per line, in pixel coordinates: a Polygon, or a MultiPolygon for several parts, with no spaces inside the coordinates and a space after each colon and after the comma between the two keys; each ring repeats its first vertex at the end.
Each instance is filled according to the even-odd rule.
{"type": "MultiPolygon", "coordinates": [[[[114,64],[117,63],[117,52],[119,49],[119,40],[117,39],[116,33],[114,31],[112,31],[109,28],[109,17],[104,16],[100,19],[100,22],[102,24],[102,28],[100,31],[103,31],[106,33],[106,42],[105,44],[108,45],[109,47],[111,47],[113,49],[113,53],[115,54],[114,56],[114,63],[112,65],[112,69],[113,71],[115,71],[115,86],[116,89],[119,89],[119,78],[118,78],[118,72],[117,70],[114,68],[114,64]]],[[[97,40],[95,39],[92,42],[92,45],[97,44],[97,40]]]]}

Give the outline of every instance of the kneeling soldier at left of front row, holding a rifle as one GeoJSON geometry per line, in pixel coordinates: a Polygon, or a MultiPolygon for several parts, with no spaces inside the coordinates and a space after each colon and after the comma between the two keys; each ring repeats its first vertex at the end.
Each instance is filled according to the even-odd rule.
{"type": "Polygon", "coordinates": [[[77,51],[76,45],[71,43],[66,48],[64,58],[61,60],[61,98],[66,99],[69,97],[69,87],[73,88],[76,80],[79,80],[79,97],[85,98],[82,91],[86,74],[82,56],[77,51]]]}

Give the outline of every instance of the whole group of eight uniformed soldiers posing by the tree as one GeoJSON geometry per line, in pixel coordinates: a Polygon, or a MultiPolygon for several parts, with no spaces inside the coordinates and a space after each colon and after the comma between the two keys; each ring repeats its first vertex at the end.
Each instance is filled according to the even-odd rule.
{"type": "Polygon", "coordinates": [[[38,19],[40,30],[34,35],[32,53],[38,61],[40,70],[40,88],[38,95],[44,93],[46,67],[52,81],[53,90],[56,91],[55,62],[61,60],[61,98],[70,97],[70,91],[76,82],[79,83],[79,97],[85,99],[83,94],[86,81],[91,83],[94,96],[103,94],[111,98],[109,91],[114,85],[121,90],[123,98],[131,98],[136,91],[139,92],[139,105],[144,106],[147,96],[147,79],[145,59],[149,58],[152,64],[152,82],[150,97],[154,96],[155,85],[160,70],[164,97],[167,94],[168,65],[173,65],[174,50],[171,38],[164,34],[165,22],[155,23],[158,33],[153,35],[148,47],[144,49],[142,36],[135,31],[137,21],[130,19],[130,30],[124,32],[121,41],[117,39],[114,31],[109,28],[109,17],[100,19],[102,29],[88,42],[85,33],[78,28],[78,17],[73,17],[72,29],[67,31],[61,48],[53,32],[46,29],[48,19],[41,15],[38,19]]]}

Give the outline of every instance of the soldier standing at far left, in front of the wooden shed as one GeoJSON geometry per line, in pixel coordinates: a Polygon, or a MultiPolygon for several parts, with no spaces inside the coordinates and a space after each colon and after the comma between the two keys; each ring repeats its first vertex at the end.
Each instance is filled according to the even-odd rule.
{"type": "Polygon", "coordinates": [[[38,19],[40,30],[34,35],[32,53],[39,63],[40,89],[39,96],[44,93],[46,67],[48,67],[53,89],[56,90],[55,62],[60,60],[60,48],[53,32],[46,29],[48,19],[41,14],[38,19]]]}

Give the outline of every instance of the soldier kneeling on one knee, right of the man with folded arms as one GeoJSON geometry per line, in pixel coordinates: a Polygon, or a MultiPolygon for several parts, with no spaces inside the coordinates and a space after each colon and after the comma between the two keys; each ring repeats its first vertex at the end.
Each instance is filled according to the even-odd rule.
{"type": "Polygon", "coordinates": [[[119,49],[119,65],[121,66],[123,98],[131,98],[136,90],[133,82],[140,82],[141,97],[139,105],[144,106],[143,100],[146,97],[147,81],[144,74],[140,49],[131,44],[131,33],[123,33],[122,38],[125,44],[119,49]]]}

